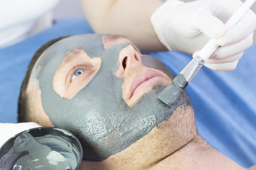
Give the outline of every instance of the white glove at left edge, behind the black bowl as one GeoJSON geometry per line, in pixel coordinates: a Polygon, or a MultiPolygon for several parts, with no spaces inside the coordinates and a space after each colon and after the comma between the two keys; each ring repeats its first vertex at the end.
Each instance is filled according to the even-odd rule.
{"type": "Polygon", "coordinates": [[[37,123],[0,123],[0,147],[19,132],[38,127],[37,123]]]}

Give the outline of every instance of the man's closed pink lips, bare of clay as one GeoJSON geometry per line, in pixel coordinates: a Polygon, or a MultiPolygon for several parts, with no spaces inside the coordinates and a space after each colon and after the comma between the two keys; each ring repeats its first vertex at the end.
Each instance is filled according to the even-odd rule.
{"type": "Polygon", "coordinates": [[[164,75],[154,70],[146,70],[145,72],[138,74],[130,86],[129,99],[145,87],[154,86],[154,84],[164,81],[167,81],[164,75]]]}

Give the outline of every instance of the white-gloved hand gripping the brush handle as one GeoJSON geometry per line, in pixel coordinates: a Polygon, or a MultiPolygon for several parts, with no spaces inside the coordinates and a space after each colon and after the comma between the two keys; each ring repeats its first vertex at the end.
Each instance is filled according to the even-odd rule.
{"type": "Polygon", "coordinates": [[[169,49],[198,53],[210,38],[220,47],[206,60],[206,67],[218,71],[235,69],[243,51],[252,45],[256,16],[245,13],[240,21],[225,32],[224,23],[242,5],[240,0],[168,0],[151,16],[159,40],[169,49]]]}

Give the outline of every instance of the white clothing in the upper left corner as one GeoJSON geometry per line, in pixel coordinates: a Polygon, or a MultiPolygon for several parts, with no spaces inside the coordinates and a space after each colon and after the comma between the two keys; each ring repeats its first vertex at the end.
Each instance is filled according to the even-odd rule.
{"type": "Polygon", "coordinates": [[[0,0],[0,49],[51,26],[60,0],[0,0]]]}

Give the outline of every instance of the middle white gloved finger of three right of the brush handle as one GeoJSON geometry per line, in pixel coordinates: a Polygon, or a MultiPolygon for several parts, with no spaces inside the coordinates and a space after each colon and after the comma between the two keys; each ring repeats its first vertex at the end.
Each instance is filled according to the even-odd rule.
{"type": "Polygon", "coordinates": [[[219,47],[209,59],[229,57],[240,52],[243,52],[252,45],[252,38],[253,33],[248,35],[247,38],[240,40],[239,42],[233,45],[219,47]]]}

